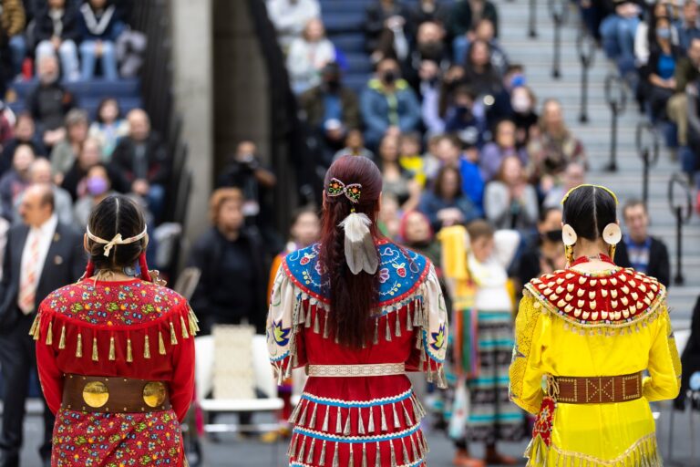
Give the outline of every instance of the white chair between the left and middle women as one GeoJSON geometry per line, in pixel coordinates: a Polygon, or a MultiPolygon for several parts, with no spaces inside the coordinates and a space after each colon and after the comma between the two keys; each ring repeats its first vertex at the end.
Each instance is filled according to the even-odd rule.
{"type": "MultiPolygon", "coordinates": [[[[277,397],[277,386],[273,377],[273,368],[267,359],[267,345],[264,336],[252,338],[252,367],[255,388],[262,393],[262,399],[207,399],[213,387],[214,338],[211,336],[196,337],[194,345],[197,399],[205,414],[207,412],[275,412],[283,408],[283,400],[277,397]]],[[[256,423],[250,426],[216,423],[206,424],[204,430],[207,432],[273,431],[278,427],[277,423],[256,423]]]]}

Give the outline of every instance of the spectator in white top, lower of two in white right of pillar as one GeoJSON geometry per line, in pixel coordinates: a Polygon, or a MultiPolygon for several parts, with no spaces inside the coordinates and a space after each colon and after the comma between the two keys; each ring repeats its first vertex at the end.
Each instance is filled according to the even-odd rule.
{"type": "Polygon", "coordinates": [[[335,61],[335,47],[325,36],[324,24],[319,18],[309,20],[304,33],[289,46],[287,70],[292,90],[301,94],[321,82],[321,70],[335,61]]]}

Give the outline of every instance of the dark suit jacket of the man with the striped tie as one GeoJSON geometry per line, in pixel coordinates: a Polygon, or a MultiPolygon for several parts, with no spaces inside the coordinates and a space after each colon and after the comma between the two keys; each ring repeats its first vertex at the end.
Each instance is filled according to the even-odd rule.
{"type": "MultiPolygon", "coordinates": [[[[0,282],[0,334],[11,330],[21,317],[17,297],[22,253],[28,234],[29,227],[24,224],[15,225],[7,233],[3,280],[0,282]]],[[[77,281],[85,272],[86,262],[82,236],[69,225],[58,223],[36,286],[36,309],[48,294],[77,281]]]]}

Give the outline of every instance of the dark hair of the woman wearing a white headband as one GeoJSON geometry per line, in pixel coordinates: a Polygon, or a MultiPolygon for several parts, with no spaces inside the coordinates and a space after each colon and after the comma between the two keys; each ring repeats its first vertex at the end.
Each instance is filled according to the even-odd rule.
{"type": "MultiPolygon", "coordinates": [[[[108,196],[90,213],[88,231],[103,239],[115,238],[120,234],[128,239],[142,233],[146,220],[139,206],[126,196],[108,196]]],[[[146,251],[148,236],[129,244],[113,244],[108,255],[105,244],[100,244],[88,237],[88,254],[95,269],[119,270],[134,265],[141,253],[146,251]]]]}

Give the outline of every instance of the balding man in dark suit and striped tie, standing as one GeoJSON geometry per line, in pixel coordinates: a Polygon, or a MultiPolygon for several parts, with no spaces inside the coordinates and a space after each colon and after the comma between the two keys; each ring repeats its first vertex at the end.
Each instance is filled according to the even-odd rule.
{"type": "MultiPolygon", "coordinates": [[[[57,288],[82,275],[86,256],[82,236],[54,213],[54,194],[46,184],[26,189],[19,208],[24,223],[7,235],[0,282],[0,366],[4,411],[0,467],[19,465],[30,371],[36,372],[35,343],[29,328],[36,309],[57,288]]],[[[44,444],[39,453],[50,465],[54,418],[44,408],[44,444]]]]}

